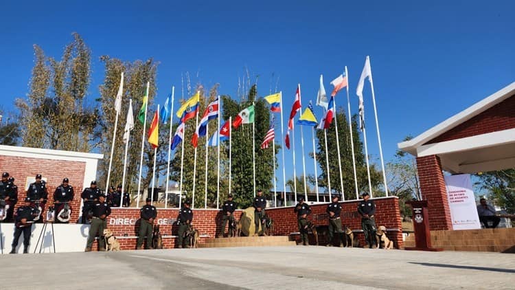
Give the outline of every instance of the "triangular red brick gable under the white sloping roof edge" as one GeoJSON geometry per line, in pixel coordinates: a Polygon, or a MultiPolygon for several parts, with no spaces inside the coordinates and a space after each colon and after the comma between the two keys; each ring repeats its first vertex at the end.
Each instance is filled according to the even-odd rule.
{"type": "Polygon", "coordinates": [[[515,128],[515,95],[474,118],[455,126],[426,144],[515,128]]]}

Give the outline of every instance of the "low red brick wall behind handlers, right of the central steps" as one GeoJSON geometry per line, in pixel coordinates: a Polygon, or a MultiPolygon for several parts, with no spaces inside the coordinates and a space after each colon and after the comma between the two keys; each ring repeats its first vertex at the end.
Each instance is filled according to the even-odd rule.
{"type": "MultiPolygon", "coordinates": [[[[400,219],[399,199],[397,197],[383,197],[371,199],[376,203],[376,225],[384,225],[389,229],[399,229],[398,232],[388,232],[387,236],[393,241],[397,248],[404,247],[402,243],[402,223],[400,219]]],[[[352,230],[361,230],[361,216],[357,212],[359,201],[342,201],[341,219],[343,225],[347,225],[352,230]]],[[[315,225],[328,225],[325,215],[327,203],[321,205],[312,205],[312,216],[310,219],[315,225]]],[[[269,216],[274,220],[275,235],[289,235],[292,232],[298,232],[297,214],[293,212],[293,207],[288,208],[271,208],[266,210],[269,216]]],[[[365,242],[363,234],[358,234],[361,243],[365,242]]]]}

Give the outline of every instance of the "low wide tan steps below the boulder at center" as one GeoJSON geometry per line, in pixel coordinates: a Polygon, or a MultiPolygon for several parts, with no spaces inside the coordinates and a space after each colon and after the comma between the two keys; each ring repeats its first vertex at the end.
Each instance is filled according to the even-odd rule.
{"type": "Polygon", "coordinates": [[[236,236],[233,238],[207,238],[198,247],[277,247],[295,246],[288,236],[236,236]]]}

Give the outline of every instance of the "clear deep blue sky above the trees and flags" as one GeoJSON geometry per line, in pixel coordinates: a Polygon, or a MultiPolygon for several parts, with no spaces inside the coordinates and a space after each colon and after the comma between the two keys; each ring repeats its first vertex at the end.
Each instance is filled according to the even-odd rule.
{"type": "MultiPolygon", "coordinates": [[[[26,96],[32,45],[60,57],[71,32],[80,33],[93,52],[91,102],[103,79],[99,57],[108,54],[159,61],[161,104],[172,85],[181,87],[185,71],[193,82],[219,82],[220,93],[236,96],[238,76],[248,68],[260,76],[260,96],[268,94],[272,76],[279,77],[286,111],[297,83],[306,105],[316,97],[320,74],[330,91],[330,80],[347,65],[352,112],[357,113],[356,84],[369,55],[383,153],[389,161],[406,135],[426,131],[515,80],[513,1],[168,2],[3,1],[2,109],[12,110],[14,98],[26,96]]],[[[339,94],[337,104],[345,103],[345,95],[339,94]]],[[[321,109],[317,114],[320,118],[321,109]]],[[[368,83],[365,114],[369,153],[378,158],[368,83]]],[[[307,144],[306,151],[311,150],[307,144]]],[[[297,172],[301,170],[298,158],[297,172]]]]}

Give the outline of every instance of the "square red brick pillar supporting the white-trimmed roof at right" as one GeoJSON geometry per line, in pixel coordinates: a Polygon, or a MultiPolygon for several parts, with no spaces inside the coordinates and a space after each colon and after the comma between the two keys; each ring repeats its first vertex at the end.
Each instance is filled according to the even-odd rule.
{"type": "Polygon", "coordinates": [[[417,157],[422,199],[428,201],[429,229],[453,230],[442,163],[437,155],[417,157]]]}

